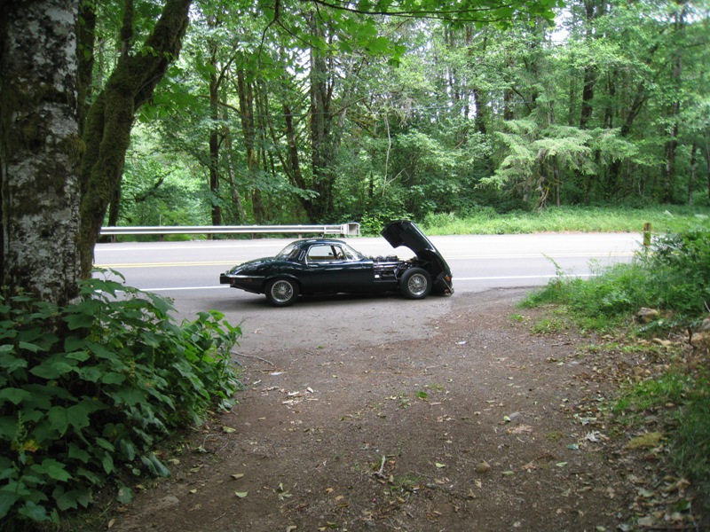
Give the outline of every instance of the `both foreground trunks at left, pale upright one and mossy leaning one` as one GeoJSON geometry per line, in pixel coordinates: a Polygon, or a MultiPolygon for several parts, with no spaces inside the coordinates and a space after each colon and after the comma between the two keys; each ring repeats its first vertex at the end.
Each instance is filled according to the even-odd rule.
{"type": "MultiPolygon", "coordinates": [[[[11,293],[32,291],[61,305],[75,298],[79,279],[91,275],[94,245],[121,180],[135,113],[177,58],[191,3],[165,1],[153,34],[140,50],[122,54],[88,109],[96,22],[91,9],[87,12],[91,4],[4,4],[0,281],[11,293]]],[[[125,8],[123,29],[129,30],[132,0],[125,0],[125,8]]]]}

